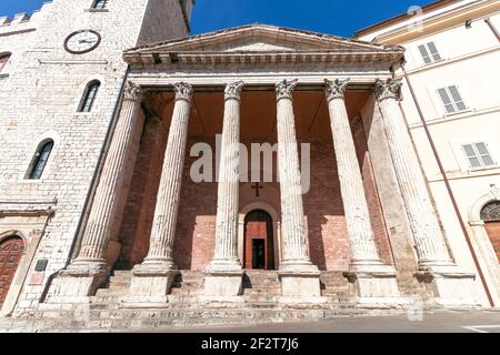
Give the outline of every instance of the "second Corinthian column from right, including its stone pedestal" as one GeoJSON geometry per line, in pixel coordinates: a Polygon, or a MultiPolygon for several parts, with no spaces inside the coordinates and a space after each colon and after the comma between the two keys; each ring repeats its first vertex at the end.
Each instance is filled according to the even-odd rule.
{"type": "Polygon", "coordinates": [[[361,170],[346,109],[344,93],[349,80],[326,80],[326,84],[340,191],[351,246],[351,263],[346,276],[357,284],[359,302],[398,303],[396,270],[382,265],[370,224],[361,170]],[[372,301],[373,298],[377,300],[372,301]]]}

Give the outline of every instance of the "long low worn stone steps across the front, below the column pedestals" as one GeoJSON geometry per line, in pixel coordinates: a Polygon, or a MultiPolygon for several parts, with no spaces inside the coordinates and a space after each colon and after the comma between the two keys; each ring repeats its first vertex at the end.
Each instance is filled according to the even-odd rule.
{"type": "MultiPolygon", "coordinates": [[[[398,314],[400,312],[386,311],[384,314],[398,314]]],[[[161,310],[91,310],[87,314],[74,311],[37,311],[32,315],[37,318],[18,318],[0,321],[0,331],[22,328],[30,331],[102,331],[112,328],[114,332],[126,329],[168,328],[172,326],[197,325],[228,325],[228,324],[256,324],[256,323],[282,323],[287,321],[307,321],[318,318],[337,318],[367,316],[370,311],[358,310],[354,305],[294,305],[287,307],[243,307],[221,310],[203,307],[200,310],[161,308],[161,310]],[[14,324],[14,325],[13,325],[14,324]]],[[[380,311],[377,311],[380,315],[380,311]]]]}

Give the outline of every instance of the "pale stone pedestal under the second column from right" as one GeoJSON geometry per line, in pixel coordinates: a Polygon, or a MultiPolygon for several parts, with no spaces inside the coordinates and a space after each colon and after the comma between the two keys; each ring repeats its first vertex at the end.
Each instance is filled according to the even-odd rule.
{"type": "Polygon", "coordinates": [[[353,284],[358,304],[409,303],[399,293],[396,268],[393,266],[382,264],[351,265],[343,275],[353,284]]]}

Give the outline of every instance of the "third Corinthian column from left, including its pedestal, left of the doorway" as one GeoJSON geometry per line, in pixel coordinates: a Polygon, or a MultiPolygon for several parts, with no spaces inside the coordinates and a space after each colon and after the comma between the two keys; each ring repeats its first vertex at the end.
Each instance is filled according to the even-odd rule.
{"type": "Polygon", "coordinates": [[[216,250],[213,258],[206,270],[204,293],[208,296],[236,296],[242,291],[243,272],[238,260],[240,97],[242,89],[242,81],[226,87],[216,250]]]}

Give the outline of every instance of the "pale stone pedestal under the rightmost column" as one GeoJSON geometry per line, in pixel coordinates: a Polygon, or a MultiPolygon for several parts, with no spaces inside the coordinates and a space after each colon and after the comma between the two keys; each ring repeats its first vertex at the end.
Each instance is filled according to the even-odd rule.
{"type": "Polygon", "coordinates": [[[443,306],[479,306],[476,297],[476,274],[457,265],[426,266],[417,273],[419,282],[432,286],[434,302],[443,306]]]}

